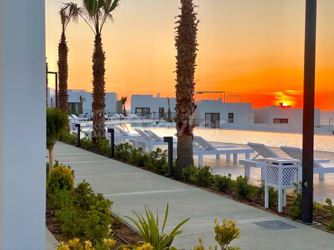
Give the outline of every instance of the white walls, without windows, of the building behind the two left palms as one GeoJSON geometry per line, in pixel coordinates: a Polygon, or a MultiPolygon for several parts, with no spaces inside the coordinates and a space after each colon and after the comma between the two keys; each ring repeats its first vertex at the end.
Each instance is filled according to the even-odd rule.
{"type": "MultiPolygon", "coordinates": [[[[92,110],[92,103],[93,103],[93,97],[92,92],[73,92],[71,89],[68,89],[67,91],[68,96],[68,102],[80,102],[79,101],[79,95],[81,95],[83,98],[86,99],[86,102],[83,103],[82,109],[84,110],[92,110]]],[[[106,111],[109,110],[109,112],[116,112],[116,93],[114,92],[107,92],[106,93],[106,111]]]]}

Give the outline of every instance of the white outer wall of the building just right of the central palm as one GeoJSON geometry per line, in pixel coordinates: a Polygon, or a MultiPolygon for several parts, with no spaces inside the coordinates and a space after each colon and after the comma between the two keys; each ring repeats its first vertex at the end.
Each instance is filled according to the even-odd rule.
{"type": "Polygon", "coordinates": [[[253,125],[252,103],[200,100],[196,105],[195,119],[205,120],[205,113],[219,113],[221,128],[251,129],[253,125]],[[233,113],[233,123],[228,122],[228,113],[233,113]]]}

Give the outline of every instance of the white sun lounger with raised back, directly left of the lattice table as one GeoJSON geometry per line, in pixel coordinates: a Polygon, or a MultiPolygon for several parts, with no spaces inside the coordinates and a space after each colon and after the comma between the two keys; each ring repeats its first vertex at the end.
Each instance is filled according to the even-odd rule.
{"type": "Polygon", "coordinates": [[[250,177],[251,175],[250,167],[261,168],[261,179],[264,180],[263,170],[266,167],[265,158],[279,158],[279,156],[264,144],[248,142],[247,145],[255,150],[258,154],[252,159],[249,159],[249,157],[246,157],[246,159],[240,159],[239,164],[245,166],[246,177],[250,177]],[[263,158],[258,158],[259,156],[262,156],[263,158]]]}

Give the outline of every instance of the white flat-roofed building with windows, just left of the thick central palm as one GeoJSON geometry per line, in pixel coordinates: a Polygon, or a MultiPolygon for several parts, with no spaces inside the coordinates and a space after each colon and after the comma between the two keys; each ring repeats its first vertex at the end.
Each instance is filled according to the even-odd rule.
{"type": "MultiPolygon", "coordinates": [[[[169,98],[170,111],[175,112],[176,98],[169,98]]],[[[157,93],[156,97],[153,95],[131,95],[131,113],[136,113],[140,116],[158,117],[158,114],[168,112],[167,97],[160,97],[157,93]]]]}

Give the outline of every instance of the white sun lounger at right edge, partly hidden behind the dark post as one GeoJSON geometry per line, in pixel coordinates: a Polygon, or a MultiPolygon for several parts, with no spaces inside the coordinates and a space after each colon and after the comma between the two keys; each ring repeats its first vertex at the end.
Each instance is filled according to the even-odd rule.
{"type": "MultiPolygon", "coordinates": [[[[293,148],[293,147],[285,147],[281,146],[280,147],[284,153],[289,155],[293,159],[297,160],[303,160],[303,151],[300,148],[293,148]]],[[[325,164],[324,163],[329,163],[328,159],[323,159],[323,158],[313,158],[313,173],[314,174],[319,174],[319,179],[324,179],[325,178],[325,173],[334,173],[334,163],[331,164],[325,164]],[[322,168],[322,169],[318,169],[322,168]],[[327,172],[328,171],[328,172],[327,172]]]]}

